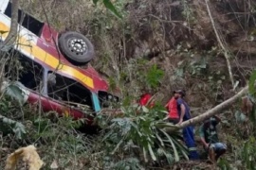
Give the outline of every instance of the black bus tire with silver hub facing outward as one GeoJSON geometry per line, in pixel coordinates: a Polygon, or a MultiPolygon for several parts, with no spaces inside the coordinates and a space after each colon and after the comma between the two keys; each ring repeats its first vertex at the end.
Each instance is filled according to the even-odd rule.
{"type": "Polygon", "coordinates": [[[59,38],[59,47],[65,59],[74,65],[84,65],[95,56],[94,46],[77,32],[65,32],[59,38]]]}

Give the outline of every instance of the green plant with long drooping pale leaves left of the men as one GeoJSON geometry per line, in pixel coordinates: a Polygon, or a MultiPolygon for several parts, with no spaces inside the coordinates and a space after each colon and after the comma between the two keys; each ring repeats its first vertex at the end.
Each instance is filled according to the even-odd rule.
{"type": "MultiPolygon", "coordinates": [[[[167,161],[169,164],[187,157],[187,149],[177,139],[179,132],[168,134],[164,128],[174,127],[173,124],[162,121],[166,111],[145,107],[122,108],[123,117],[109,121],[110,126],[103,142],[111,144],[111,155],[119,152],[143,153],[144,161],[167,161]]],[[[105,119],[101,119],[105,120],[105,119]]]]}

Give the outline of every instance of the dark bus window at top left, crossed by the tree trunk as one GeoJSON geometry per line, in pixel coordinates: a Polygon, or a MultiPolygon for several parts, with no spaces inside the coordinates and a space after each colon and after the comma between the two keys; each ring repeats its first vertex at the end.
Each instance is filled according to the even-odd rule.
{"type": "MultiPolygon", "coordinates": [[[[11,18],[11,3],[9,2],[8,7],[5,10],[5,14],[11,18]]],[[[18,23],[22,22],[22,26],[26,27],[29,31],[34,33],[37,36],[40,36],[41,30],[44,26],[44,23],[36,20],[32,16],[23,12],[21,9],[18,11],[18,23]]]]}

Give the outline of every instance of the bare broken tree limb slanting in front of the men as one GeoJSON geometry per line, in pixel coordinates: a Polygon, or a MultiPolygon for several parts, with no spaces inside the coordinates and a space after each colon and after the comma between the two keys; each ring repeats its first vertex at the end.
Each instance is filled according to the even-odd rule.
{"type": "Polygon", "coordinates": [[[168,128],[166,129],[168,132],[175,131],[180,128],[188,127],[191,125],[195,125],[197,123],[202,123],[204,120],[209,119],[211,116],[220,113],[222,110],[225,110],[229,108],[232,104],[234,104],[239,98],[241,98],[244,94],[248,92],[248,86],[242,89],[239,93],[236,93],[232,97],[230,97],[228,100],[222,102],[221,104],[217,105],[216,107],[212,108],[211,110],[208,110],[188,121],[185,121],[181,123],[180,125],[176,125],[174,128],[168,128]]]}

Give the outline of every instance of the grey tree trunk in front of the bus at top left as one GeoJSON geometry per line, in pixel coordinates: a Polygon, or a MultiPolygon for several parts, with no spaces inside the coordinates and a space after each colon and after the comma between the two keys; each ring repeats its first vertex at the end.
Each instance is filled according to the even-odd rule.
{"type": "Polygon", "coordinates": [[[11,23],[9,28],[9,34],[6,40],[0,45],[0,50],[8,51],[17,38],[18,32],[18,9],[19,9],[19,0],[12,0],[11,4],[11,23]]]}

